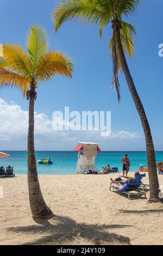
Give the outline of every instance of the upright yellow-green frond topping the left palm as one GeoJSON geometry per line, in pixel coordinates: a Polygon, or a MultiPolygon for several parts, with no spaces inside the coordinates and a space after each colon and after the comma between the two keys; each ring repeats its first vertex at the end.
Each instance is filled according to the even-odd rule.
{"type": "Polygon", "coordinates": [[[39,59],[48,51],[48,46],[49,40],[46,30],[40,25],[30,27],[27,34],[27,49],[33,66],[33,76],[37,72],[35,68],[39,59]]]}

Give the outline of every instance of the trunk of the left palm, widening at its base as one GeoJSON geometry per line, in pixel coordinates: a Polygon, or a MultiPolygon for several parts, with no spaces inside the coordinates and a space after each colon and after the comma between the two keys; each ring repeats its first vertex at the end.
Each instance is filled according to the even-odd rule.
{"type": "Polygon", "coordinates": [[[35,89],[32,88],[29,92],[29,128],[28,128],[28,190],[29,202],[32,215],[35,218],[51,218],[53,212],[48,208],[43,200],[40,190],[35,150],[34,150],[34,101],[35,89]]]}

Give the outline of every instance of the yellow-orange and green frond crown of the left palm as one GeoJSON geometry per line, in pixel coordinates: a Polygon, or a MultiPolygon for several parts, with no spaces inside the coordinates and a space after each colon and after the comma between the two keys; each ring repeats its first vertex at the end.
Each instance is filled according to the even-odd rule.
{"type": "Polygon", "coordinates": [[[49,51],[45,29],[30,27],[27,37],[28,52],[20,45],[4,44],[0,57],[0,87],[21,89],[23,96],[39,81],[47,81],[54,75],[72,77],[73,63],[66,54],[49,51]]]}

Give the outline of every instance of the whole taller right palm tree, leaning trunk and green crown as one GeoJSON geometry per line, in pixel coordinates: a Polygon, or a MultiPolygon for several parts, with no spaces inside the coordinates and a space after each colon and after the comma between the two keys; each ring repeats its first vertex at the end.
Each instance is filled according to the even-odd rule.
{"type": "Polygon", "coordinates": [[[108,26],[109,22],[111,23],[112,37],[109,46],[113,62],[112,87],[116,88],[118,101],[120,101],[120,83],[118,81],[118,75],[122,69],[137,112],[140,115],[143,131],[146,137],[150,182],[149,202],[157,202],[159,182],[156,172],[153,139],[145,109],[137,94],[125,56],[128,53],[131,57],[134,52],[133,35],[135,34],[135,29],[129,23],[124,22],[123,17],[132,14],[139,3],[140,0],[66,0],[59,2],[57,9],[53,10],[52,20],[55,32],[58,31],[61,24],[65,21],[79,18],[82,21],[98,25],[100,36],[102,36],[103,27],[108,26]]]}

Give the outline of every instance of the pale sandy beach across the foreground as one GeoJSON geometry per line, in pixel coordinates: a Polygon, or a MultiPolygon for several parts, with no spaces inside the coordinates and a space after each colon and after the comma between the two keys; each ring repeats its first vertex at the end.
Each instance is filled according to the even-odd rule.
{"type": "Polygon", "coordinates": [[[115,176],[40,175],[51,220],[31,217],[27,175],[0,179],[0,245],[163,245],[163,204],[110,192],[115,176]]]}

